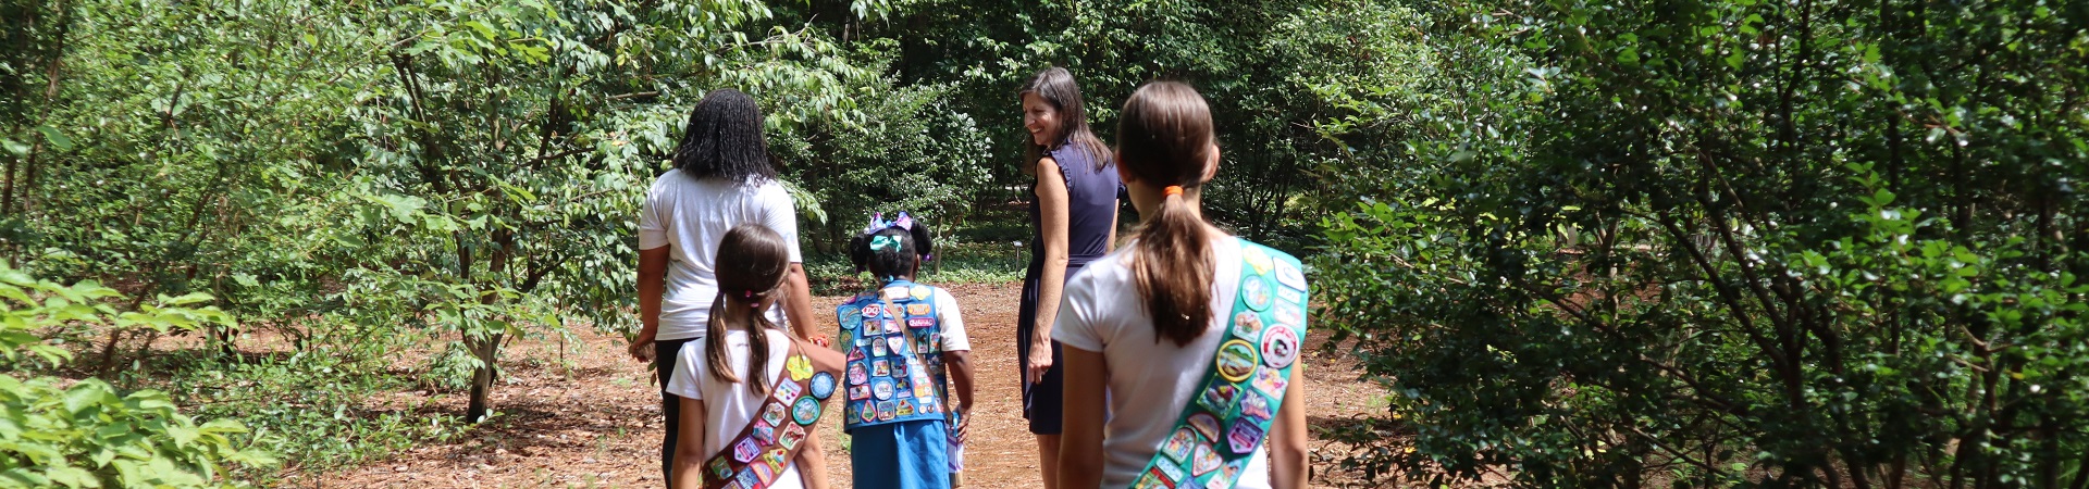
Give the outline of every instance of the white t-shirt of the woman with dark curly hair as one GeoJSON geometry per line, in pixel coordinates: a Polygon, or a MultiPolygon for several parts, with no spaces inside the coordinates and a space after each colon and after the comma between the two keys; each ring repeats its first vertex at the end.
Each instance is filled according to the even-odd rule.
{"type": "MultiPolygon", "coordinates": [[[[668,169],[654,180],[639,211],[639,249],[673,245],[666,267],[666,297],[660,301],[656,341],[700,339],[719,295],[714,263],[725,232],[740,224],[762,224],[783,236],[792,263],[798,255],[798,209],[775,180],[760,184],[723,178],[696,180],[668,169]]],[[[769,322],[785,324],[781,301],[769,307],[769,322]]]]}

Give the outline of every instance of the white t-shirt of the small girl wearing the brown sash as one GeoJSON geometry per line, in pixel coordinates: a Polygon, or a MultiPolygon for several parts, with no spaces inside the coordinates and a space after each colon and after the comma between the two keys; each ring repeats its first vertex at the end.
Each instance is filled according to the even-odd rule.
{"type": "MultiPolygon", "coordinates": [[[[767,378],[769,387],[775,387],[775,380],[783,378],[783,362],[790,359],[788,355],[790,336],[783,334],[781,330],[767,330],[767,336],[769,336],[767,378]]],[[[719,382],[717,378],[710,376],[710,362],[704,359],[706,341],[710,339],[696,339],[681,345],[681,355],[675,362],[675,380],[666,382],[666,391],[687,399],[704,401],[702,453],[704,460],[710,460],[710,456],[717,456],[721,449],[725,449],[725,443],[731,443],[733,437],[740,435],[740,430],[744,430],[750,422],[754,422],[754,416],[760,414],[758,410],[762,408],[762,401],[769,401],[769,395],[756,397],[754,393],[748,391],[748,385],[744,385],[744,382],[754,382],[754,376],[748,374],[748,332],[744,330],[725,332],[725,351],[729,357],[727,364],[733,366],[733,374],[740,376],[740,382],[719,382]]],[[[777,474],[775,485],[769,487],[773,489],[804,487],[804,481],[798,479],[798,462],[792,460],[790,466],[783,468],[783,474],[777,474]]]]}

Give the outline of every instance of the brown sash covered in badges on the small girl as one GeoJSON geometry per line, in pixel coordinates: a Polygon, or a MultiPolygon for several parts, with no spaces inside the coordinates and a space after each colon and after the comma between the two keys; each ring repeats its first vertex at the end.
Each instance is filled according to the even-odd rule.
{"type": "MultiPolygon", "coordinates": [[[[762,489],[790,468],[792,458],[813,437],[819,422],[821,401],[834,395],[836,378],[829,372],[815,372],[813,359],[804,357],[804,345],[792,343],[792,355],[783,362],[783,378],[769,389],[769,401],[756,412],[754,422],[725,443],[717,456],[704,462],[704,489],[762,489]]],[[[696,441],[691,441],[696,443],[696,441]]]]}

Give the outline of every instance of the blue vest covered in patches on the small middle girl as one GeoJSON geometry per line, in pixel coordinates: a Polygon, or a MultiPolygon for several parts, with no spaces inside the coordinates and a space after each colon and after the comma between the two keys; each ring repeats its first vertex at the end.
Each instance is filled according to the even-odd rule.
{"type": "Polygon", "coordinates": [[[942,322],[936,288],[892,280],[836,307],[848,366],[842,430],[942,420],[942,322]]]}

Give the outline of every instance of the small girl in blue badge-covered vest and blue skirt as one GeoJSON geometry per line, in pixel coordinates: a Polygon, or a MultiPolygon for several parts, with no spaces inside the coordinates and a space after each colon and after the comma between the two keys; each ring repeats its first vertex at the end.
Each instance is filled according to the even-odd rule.
{"type": "Polygon", "coordinates": [[[907,213],[894,222],[871,217],[848,242],[850,261],[877,282],[836,307],[848,351],[842,426],[854,487],[948,489],[959,468],[953,462],[971,408],[971,339],[957,299],[913,282],[932,251],[928,226],[907,213]]]}

